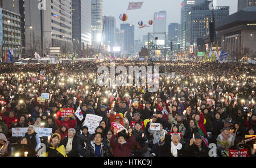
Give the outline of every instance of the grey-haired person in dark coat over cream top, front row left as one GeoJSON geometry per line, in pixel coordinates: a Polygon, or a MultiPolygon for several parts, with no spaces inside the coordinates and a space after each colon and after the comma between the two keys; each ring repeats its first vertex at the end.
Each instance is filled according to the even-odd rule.
{"type": "Polygon", "coordinates": [[[64,137],[63,140],[61,140],[61,144],[65,147],[65,152],[68,157],[78,157],[78,151],[77,151],[77,137],[76,130],[74,128],[69,128],[68,130],[68,136],[64,137]]]}

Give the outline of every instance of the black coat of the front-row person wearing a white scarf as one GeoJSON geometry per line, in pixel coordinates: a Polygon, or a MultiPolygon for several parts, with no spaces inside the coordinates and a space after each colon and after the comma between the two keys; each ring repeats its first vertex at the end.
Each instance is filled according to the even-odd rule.
{"type": "MultiPolygon", "coordinates": [[[[163,143],[160,143],[159,141],[159,157],[174,157],[171,153],[171,135],[167,134],[165,135],[163,143]]],[[[177,157],[182,157],[184,153],[184,147],[182,147],[180,150],[177,149],[177,157]]]]}

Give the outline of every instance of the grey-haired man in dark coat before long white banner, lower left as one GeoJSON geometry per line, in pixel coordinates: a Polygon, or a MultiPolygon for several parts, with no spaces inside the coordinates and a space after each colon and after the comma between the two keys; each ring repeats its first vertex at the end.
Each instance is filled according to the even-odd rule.
{"type": "Polygon", "coordinates": [[[35,132],[35,126],[28,126],[27,132],[22,137],[25,136],[27,137],[27,139],[30,139],[32,147],[35,149],[35,152],[38,152],[38,149],[41,145],[41,141],[38,133],[35,132]]]}

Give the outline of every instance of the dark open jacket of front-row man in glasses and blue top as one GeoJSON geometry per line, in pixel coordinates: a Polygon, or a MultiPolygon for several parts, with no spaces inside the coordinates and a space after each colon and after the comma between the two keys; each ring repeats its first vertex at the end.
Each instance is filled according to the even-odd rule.
{"type": "MultiPolygon", "coordinates": [[[[90,145],[86,148],[85,156],[94,157],[95,156],[95,143],[91,141],[90,145]]],[[[110,157],[110,149],[107,144],[101,143],[101,157],[110,157]]]]}

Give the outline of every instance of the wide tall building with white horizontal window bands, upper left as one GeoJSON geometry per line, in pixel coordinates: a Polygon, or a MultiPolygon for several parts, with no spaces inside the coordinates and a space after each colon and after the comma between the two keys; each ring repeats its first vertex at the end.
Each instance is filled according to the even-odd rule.
{"type": "Polygon", "coordinates": [[[72,1],[45,1],[42,10],[38,1],[24,2],[27,54],[47,54],[50,47],[72,54],[72,1]]]}

